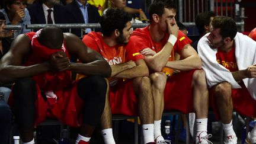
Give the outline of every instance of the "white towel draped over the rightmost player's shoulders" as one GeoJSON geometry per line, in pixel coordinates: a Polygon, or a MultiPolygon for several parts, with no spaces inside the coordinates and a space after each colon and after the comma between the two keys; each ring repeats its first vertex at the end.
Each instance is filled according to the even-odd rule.
{"type": "MultiPolygon", "coordinates": [[[[219,84],[220,82],[229,82],[232,88],[241,88],[238,82],[232,76],[232,73],[224,66],[217,63],[217,49],[209,47],[207,36],[203,36],[198,43],[197,50],[203,62],[203,69],[206,72],[207,84],[209,87],[219,84]]],[[[235,55],[236,63],[239,70],[247,69],[248,66],[256,64],[256,42],[242,33],[237,33],[235,38],[235,55]]],[[[243,79],[251,97],[256,100],[256,79],[243,79]]]]}

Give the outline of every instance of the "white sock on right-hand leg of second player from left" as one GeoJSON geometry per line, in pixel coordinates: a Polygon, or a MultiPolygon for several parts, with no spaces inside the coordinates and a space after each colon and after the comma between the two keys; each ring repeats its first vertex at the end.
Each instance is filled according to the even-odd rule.
{"type": "Polygon", "coordinates": [[[153,124],[142,124],[142,134],[144,143],[154,142],[153,124]]]}

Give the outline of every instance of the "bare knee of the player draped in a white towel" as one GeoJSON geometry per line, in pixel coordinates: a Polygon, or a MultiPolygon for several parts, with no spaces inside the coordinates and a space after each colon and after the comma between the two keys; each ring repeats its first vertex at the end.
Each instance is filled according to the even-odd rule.
{"type": "Polygon", "coordinates": [[[232,85],[228,82],[222,82],[215,87],[215,95],[222,97],[224,100],[228,100],[231,97],[232,85]]]}

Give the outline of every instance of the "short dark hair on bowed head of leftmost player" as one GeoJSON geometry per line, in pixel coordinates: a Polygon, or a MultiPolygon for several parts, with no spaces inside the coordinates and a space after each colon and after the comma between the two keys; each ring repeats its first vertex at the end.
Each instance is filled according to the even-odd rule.
{"type": "Polygon", "coordinates": [[[63,43],[63,32],[55,25],[47,25],[41,30],[39,43],[50,49],[60,49],[63,43]]]}

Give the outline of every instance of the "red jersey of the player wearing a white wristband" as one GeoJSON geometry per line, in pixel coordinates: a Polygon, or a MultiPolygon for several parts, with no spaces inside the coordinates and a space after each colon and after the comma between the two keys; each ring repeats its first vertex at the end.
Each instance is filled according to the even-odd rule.
{"type": "MultiPolygon", "coordinates": [[[[143,50],[147,47],[158,53],[160,50],[162,50],[162,47],[167,43],[167,40],[169,38],[169,34],[166,33],[162,41],[155,42],[152,40],[151,34],[149,33],[149,25],[144,28],[136,28],[135,31],[133,31],[132,37],[130,38],[130,41],[133,41],[133,43],[136,43],[136,46],[139,50],[143,50]]],[[[180,54],[181,50],[186,44],[190,44],[192,41],[185,36],[184,33],[181,31],[178,31],[178,38],[176,43],[174,44],[174,47],[172,49],[170,58],[168,61],[175,60],[174,59],[174,53],[180,54]]],[[[182,57],[181,57],[182,59],[182,57]]],[[[165,72],[167,75],[172,75],[172,69],[165,67],[162,69],[163,72],[165,72]]]]}

